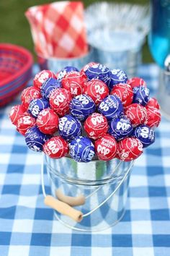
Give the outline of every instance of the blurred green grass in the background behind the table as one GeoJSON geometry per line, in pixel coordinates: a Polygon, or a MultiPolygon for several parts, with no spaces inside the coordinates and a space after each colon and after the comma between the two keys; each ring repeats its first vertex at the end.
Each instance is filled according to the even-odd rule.
{"type": "MultiPolygon", "coordinates": [[[[55,0],[56,1],[56,0],[55,0]]],[[[0,43],[14,43],[28,48],[34,54],[34,46],[32,42],[32,35],[30,32],[30,25],[27,22],[24,12],[27,8],[34,5],[51,3],[51,0],[1,0],[0,1],[0,43]]],[[[86,0],[84,7],[96,2],[95,0],[86,0]]],[[[99,1],[98,1],[99,2],[99,1]]],[[[117,1],[108,1],[117,2],[117,1]]],[[[120,2],[133,4],[149,4],[148,0],[120,0],[120,2]]],[[[36,60],[36,59],[35,59],[36,60]]],[[[153,59],[148,49],[148,43],[143,46],[143,62],[152,62],[153,59]]]]}

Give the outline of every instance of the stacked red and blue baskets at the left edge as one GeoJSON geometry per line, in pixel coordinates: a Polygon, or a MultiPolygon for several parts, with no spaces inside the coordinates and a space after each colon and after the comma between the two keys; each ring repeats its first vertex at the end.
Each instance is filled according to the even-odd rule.
{"type": "Polygon", "coordinates": [[[12,101],[27,85],[32,64],[32,54],[27,49],[0,43],[0,106],[12,101]]]}

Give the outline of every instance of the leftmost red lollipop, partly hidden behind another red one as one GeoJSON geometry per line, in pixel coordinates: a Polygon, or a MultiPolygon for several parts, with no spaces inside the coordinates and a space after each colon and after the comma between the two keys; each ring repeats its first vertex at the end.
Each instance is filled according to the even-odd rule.
{"type": "Polygon", "coordinates": [[[17,125],[17,121],[19,117],[27,115],[27,111],[25,110],[23,105],[13,106],[11,111],[9,112],[9,119],[12,121],[12,124],[17,125]]]}

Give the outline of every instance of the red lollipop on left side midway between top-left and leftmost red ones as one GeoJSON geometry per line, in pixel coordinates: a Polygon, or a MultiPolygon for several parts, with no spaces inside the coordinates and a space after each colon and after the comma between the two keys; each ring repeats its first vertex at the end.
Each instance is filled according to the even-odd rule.
{"type": "Polygon", "coordinates": [[[30,105],[30,101],[34,100],[35,98],[42,98],[42,95],[40,94],[40,90],[38,90],[34,86],[26,88],[22,91],[21,99],[26,109],[30,105]]]}

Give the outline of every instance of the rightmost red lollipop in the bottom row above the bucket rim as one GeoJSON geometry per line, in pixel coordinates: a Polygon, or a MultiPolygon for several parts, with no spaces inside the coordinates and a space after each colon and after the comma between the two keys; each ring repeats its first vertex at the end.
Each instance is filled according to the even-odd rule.
{"type": "Polygon", "coordinates": [[[128,162],[138,158],[143,153],[143,145],[135,137],[120,140],[117,144],[117,156],[120,160],[128,162]]]}

